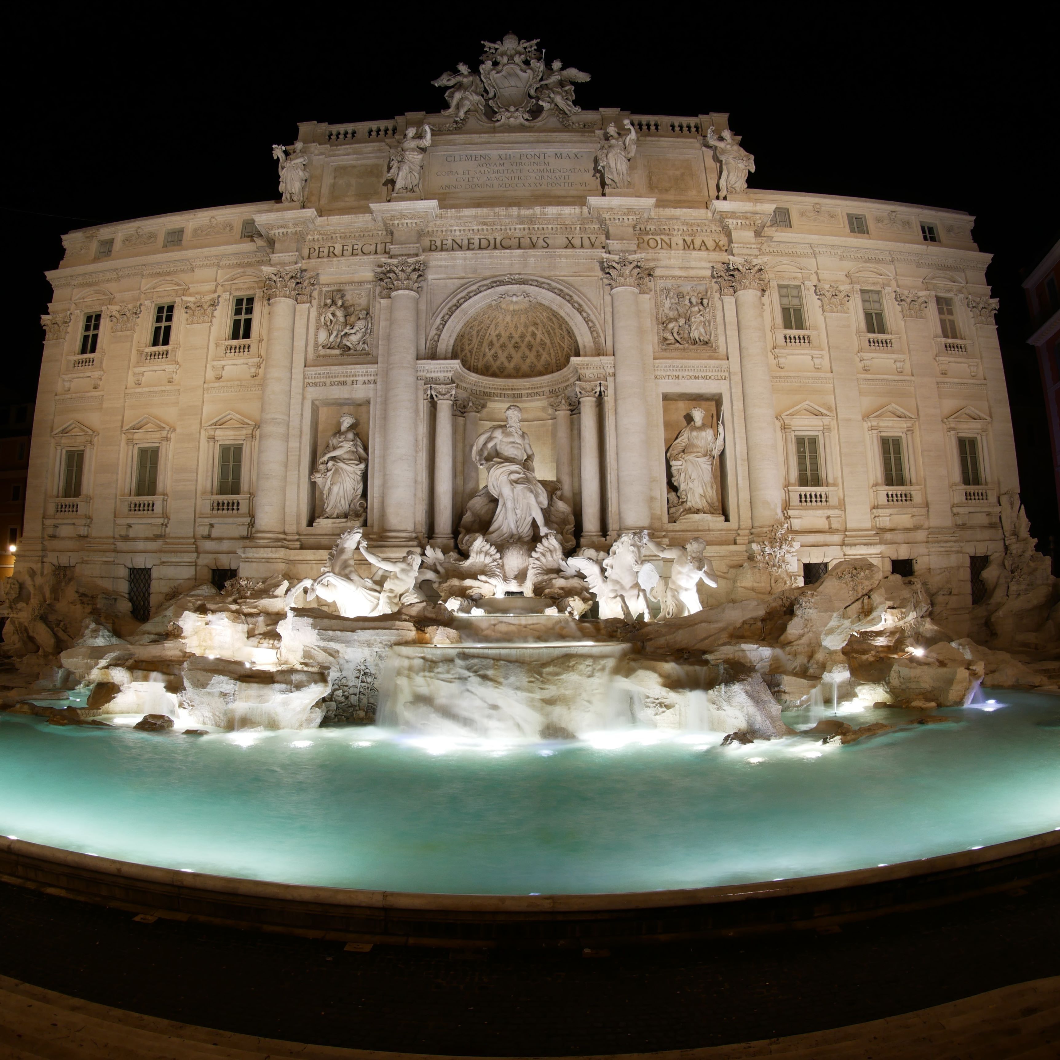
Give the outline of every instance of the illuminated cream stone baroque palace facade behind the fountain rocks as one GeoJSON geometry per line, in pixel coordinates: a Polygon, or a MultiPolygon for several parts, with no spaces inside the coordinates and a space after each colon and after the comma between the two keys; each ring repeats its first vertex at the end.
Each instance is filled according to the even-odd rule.
{"type": "Polygon", "coordinates": [[[867,558],[967,617],[1019,489],[973,218],[748,188],[726,114],[582,111],[500,43],[442,113],[300,125],[282,201],[64,238],[19,564],[145,613],[314,577],[348,525],[449,550],[516,405],[583,547],[700,537],[720,601],[788,520],[796,577],[867,558]],[[502,63],[537,80],[491,94],[502,63]]]}

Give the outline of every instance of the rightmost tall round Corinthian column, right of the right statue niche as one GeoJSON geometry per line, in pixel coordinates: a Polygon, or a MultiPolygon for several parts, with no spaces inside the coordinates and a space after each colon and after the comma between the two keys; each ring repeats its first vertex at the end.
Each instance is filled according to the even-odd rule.
{"type": "Polygon", "coordinates": [[[730,258],[714,266],[722,295],[736,299],[736,325],[743,382],[743,418],[747,436],[752,533],[760,537],[782,511],[780,460],[777,456],[776,407],[770,369],[770,348],[762,314],[766,288],[760,262],[730,258]]]}

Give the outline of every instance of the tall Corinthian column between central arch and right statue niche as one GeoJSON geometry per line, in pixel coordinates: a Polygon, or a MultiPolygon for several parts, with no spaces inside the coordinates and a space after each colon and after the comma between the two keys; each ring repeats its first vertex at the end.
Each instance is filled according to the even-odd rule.
{"type": "MultiPolygon", "coordinates": [[[[642,254],[604,254],[600,267],[611,287],[615,347],[615,419],[618,459],[619,530],[646,530],[652,522],[648,459],[648,395],[644,393],[638,296],[648,289],[642,254]]],[[[584,487],[583,487],[584,489],[584,487]]]]}

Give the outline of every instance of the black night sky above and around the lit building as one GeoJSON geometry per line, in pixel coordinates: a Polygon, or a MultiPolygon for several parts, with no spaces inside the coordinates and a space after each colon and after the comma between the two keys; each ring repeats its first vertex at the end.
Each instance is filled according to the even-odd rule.
{"type": "Polygon", "coordinates": [[[1024,500],[1043,548],[1060,538],[1020,288],[1021,269],[1060,236],[1056,22],[1044,8],[1031,22],[1022,4],[989,19],[956,4],[403,4],[388,24],[367,5],[174,5],[158,21],[139,5],[64,7],[8,25],[0,71],[8,391],[36,390],[42,272],[61,258],[60,233],[278,197],[271,144],[292,142],[298,121],[438,111],[429,82],[460,60],[474,68],[480,41],[511,29],[591,74],[577,89],[585,109],[729,111],[756,157],[752,188],[974,214],[994,254],[1024,500]]]}

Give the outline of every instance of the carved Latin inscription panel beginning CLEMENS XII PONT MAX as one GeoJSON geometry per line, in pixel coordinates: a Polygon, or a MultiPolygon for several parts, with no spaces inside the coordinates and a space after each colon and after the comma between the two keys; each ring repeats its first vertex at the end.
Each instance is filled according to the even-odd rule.
{"type": "Polygon", "coordinates": [[[571,191],[600,193],[593,151],[568,147],[428,151],[425,190],[446,192],[571,191]]]}

